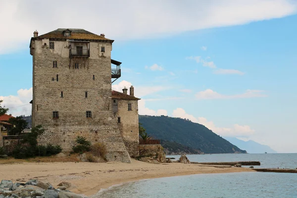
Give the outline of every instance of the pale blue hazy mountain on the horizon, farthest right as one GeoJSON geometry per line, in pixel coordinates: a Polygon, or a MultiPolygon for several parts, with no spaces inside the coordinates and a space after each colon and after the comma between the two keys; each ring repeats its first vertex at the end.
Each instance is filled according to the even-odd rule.
{"type": "Polygon", "coordinates": [[[237,138],[231,138],[231,137],[224,137],[224,139],[228,140],[230,143],[236,145],[241,149],[247,150],[248,153],[264,153],[264,152],[277,153],[277,151],[271,149],[269,146],[261,145],[252,140],[249,140],[246,142],[246,141],[239,140],[237,138]]]}

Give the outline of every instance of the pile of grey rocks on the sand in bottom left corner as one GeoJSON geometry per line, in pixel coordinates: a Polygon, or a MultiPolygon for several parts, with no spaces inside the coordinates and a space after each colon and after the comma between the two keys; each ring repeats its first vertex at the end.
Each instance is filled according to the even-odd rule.
{"type": "Polygon", "coordinates": [[[0,183],[0,198],[85,198],[71,193],[68,189],[73,187],[69,182],[61,182],[54,188],[48,182],[36,179],[26,183],[13,183],[2,180],[0,183]]]}

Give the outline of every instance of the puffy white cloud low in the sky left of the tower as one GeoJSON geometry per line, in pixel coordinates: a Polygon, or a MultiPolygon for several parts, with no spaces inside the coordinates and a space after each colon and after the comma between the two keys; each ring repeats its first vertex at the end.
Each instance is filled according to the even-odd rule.
{"type": "Polygon", "coordinates": [[[9,108],[8,113],[13,116],[31,115],[32,88],[20,89],[17,91],[17,96],[0,96],[3,100],[3,106],[9,108]]]}

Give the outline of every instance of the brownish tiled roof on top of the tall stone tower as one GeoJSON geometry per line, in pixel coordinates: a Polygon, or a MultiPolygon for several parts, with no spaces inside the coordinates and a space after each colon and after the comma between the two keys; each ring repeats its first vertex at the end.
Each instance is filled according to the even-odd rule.
{"type": "Polygon", "coordinates": [[[54,31],[51,31],[47,34],[40,35],[38,37],[33,37],[33,40],[41,40],[41,39],[74,39],[74,40],[101,40],[112,43],[113,40],[106,39],[105,37],[99,36],[97,34],[93,34],[92,32],[88,32],[84,29],[64,29],[59,28],[54,31]],[[70,30],[71,34],[69,37],[65,37],[63,31],[70,30]]]}

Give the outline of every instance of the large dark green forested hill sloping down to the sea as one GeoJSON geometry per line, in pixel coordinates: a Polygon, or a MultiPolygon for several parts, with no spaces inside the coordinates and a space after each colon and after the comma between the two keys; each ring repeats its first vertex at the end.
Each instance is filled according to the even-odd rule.
{"type": "Polygon", "coordinates": [[[139,115],[139,122],[155,139],[180,143],[204,153],[247,153],[205,126],[182,118],[139,115]]]}

